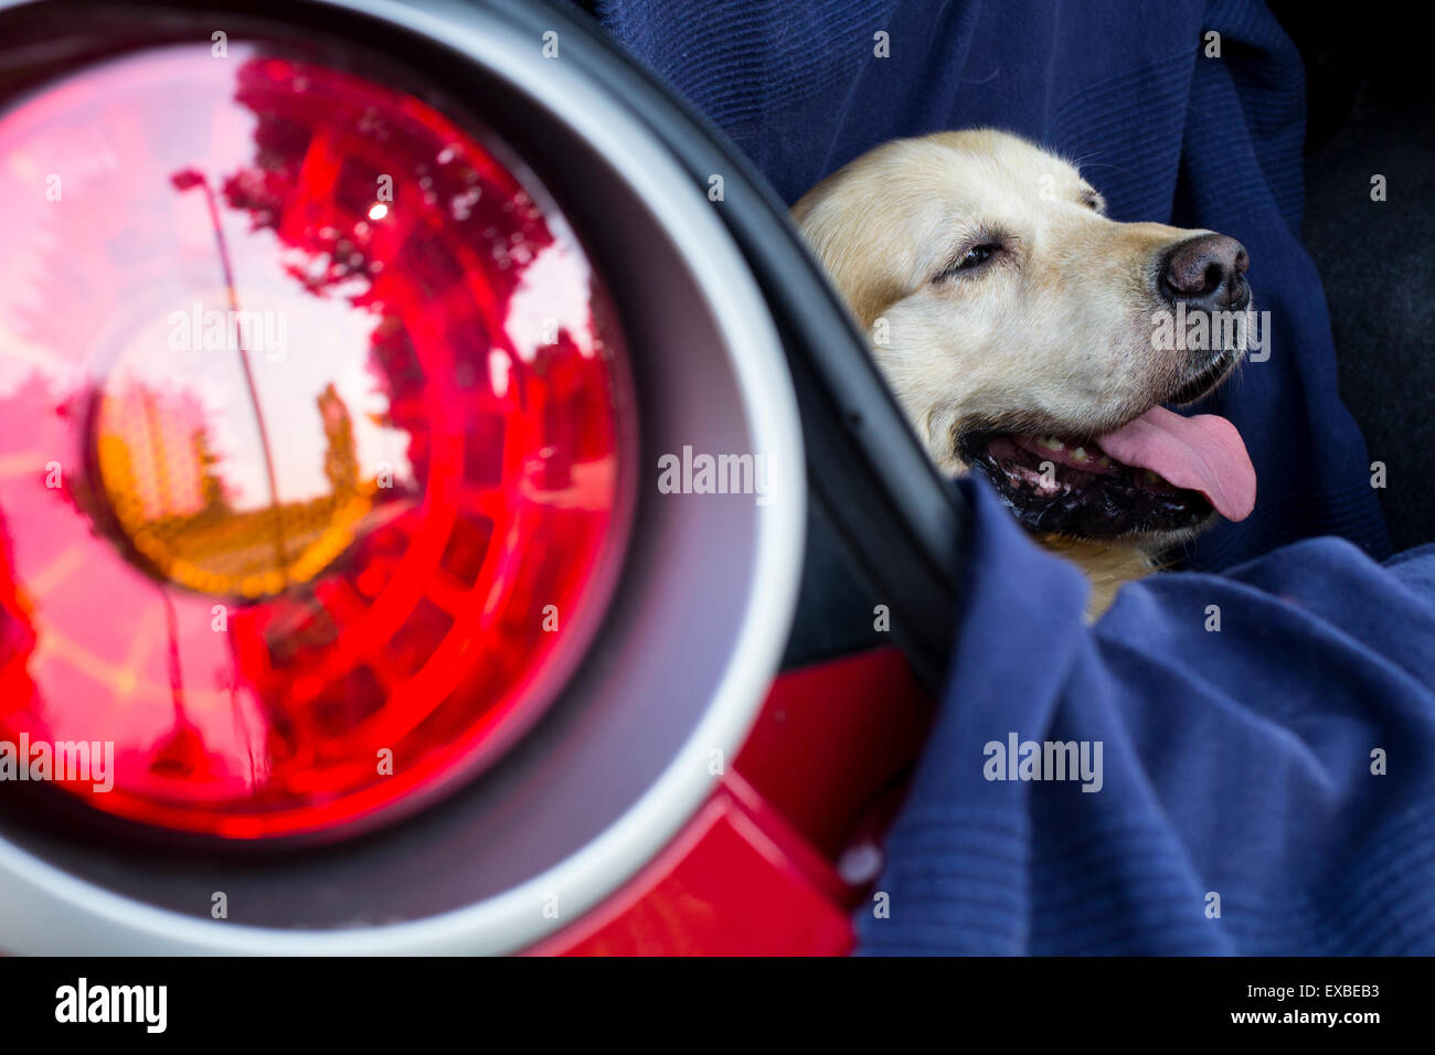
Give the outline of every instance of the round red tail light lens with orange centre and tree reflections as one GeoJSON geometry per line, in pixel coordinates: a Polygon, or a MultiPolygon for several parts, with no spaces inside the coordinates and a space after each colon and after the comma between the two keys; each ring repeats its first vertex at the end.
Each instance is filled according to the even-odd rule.
{"type": "Polygon", "coordinates": [[[623,353],[563,215],[446,111],[231,43],[0,115],[0,775],[334,830],[475,772],[581,657],[623,353]]]}

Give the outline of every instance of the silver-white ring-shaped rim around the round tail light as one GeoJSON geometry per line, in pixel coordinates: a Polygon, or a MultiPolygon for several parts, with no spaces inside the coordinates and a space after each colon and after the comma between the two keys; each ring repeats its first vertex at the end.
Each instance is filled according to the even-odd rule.
{"type": "MultiPolygon", "coordinates": [[[[0,4],[4,6],[4,4],[0,4]]],[[[659,779],[601,835],[502,894],[423,919],[352,930],[283,930],[159,909],[80,880],[0,840],[0,947],[88,955],[456,955],[509,953],[577,922],[650,863],[710,797],[716,748],[732,758],[778,670],[796,606],[806,524],[802,431],[782,346],[762,293],[712,204],[676,161],[613,100],[511,27],[474,24],[474,10],[435,0],[326,0],[442,42],[560,116],[653,212],[697,280],[725,337],[758,452],[794,466],[756,517],[745,614],[702,721],[659,779]],[[501,32],[495,32],[499,30],[501,32]],[[542,906],[557,896],[561,919],[542,906]]]]}

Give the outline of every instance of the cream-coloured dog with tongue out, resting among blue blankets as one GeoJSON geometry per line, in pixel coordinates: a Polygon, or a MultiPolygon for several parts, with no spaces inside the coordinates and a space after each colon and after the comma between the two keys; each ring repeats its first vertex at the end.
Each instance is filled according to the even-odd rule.
{"type": "Polygon", "coordinates": [[[1104,212],[1073,165],[990,129],[888,142],[792,210],[931,459],[1076,560],[1093,614],[1256,502],[1236,426],[1164,406],[1240,362],[1246,250],[1104,212]]]}

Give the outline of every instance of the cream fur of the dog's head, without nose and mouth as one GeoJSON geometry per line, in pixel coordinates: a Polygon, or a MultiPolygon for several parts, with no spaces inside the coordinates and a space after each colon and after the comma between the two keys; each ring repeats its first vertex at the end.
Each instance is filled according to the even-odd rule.
{"type": "MultiPolygon", "coordinates": [[[[970,422],[1095,436],[1161,402],[1178,363],[1151,350],[1154,274],[1201,231],[1119,224],[1078,169],[980,129],[898,139],[812,188],[792,215],[931,459],[967,465],[970,422]],[[947,273],[973,245],[999,251],[947,273]]],[[[1155,545],[1046,538],[1092,581],[1092,613],[1155,545]]],[[[1165,540],[1171,541],[1171,540],[1165,540]]]]}

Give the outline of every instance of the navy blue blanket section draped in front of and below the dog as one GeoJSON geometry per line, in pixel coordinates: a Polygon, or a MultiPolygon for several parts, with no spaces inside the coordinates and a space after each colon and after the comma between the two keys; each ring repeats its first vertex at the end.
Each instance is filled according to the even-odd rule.
{"type": "Polygon", "coordinates": [[[1075,566],[961,488],[953,675],[861,952],[1435,953],[1435,545],[1312,538],[1086,627],[1075,566]]]}

